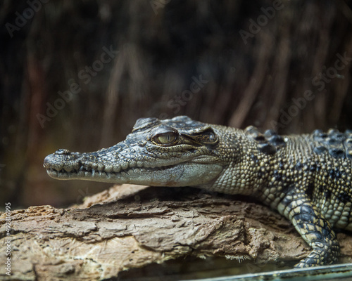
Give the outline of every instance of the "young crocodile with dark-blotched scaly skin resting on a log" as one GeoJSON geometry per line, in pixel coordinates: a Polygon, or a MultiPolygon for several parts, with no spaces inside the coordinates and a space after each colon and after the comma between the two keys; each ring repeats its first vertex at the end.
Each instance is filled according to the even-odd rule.
{"type": "Polygon", "coordinates": [[[249,195],[291,221],[311,251],[296,268],[339,259],[333,228],[352,230],[352,131],[281,136],[187,116],[138,119],[125,141],[96,152],[57,150],[52,178],[192,186],[249,195]]]}

